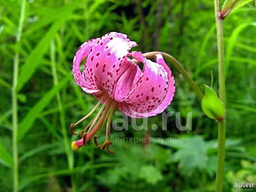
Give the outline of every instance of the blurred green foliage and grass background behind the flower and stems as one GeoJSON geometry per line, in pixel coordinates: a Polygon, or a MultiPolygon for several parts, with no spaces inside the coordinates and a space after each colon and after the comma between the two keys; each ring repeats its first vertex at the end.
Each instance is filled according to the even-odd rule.
{"type": "MultiPolygon", "coordinates": [[[[86,40],[109,31],[136,41],[139,46],[133,50],[171,54],[203,92],[204,83],[211,84],[212,71],[217,92],[213,1],[29,0],[19,24],[20,6],[20,1],[0,0],[0,191],[13,189],[13,149],[19,153],[20,191],[214,191],[217,124],[204,115],[196,93],[172,66],[176,95],[165,112],[180,112],[181,124],[186,125],[192,111],[192,130],[177,129],[175,115],[168,118],[166,131],[161,129],[161,115],[148,119],[147,131],[112,129],[115,154],[101,151],[92,141],[73,152],[70,143],[79,137],[68,130],[97,103],[74,83],[74,54],[86,40]],[[14,63],[19,64],[17,108],[12,108],[14,63]],[[18,111],[19,123],[14,145],[13,110],[18,111]],[[153,124],[159,125],[157,131],[150,128],[153,124]],[[180,138],[188,142],[176,140],[180,138]]],[[[224,21],[224,191],[235,191],[235,182],[256,182],[255,13],[251,3],[224,21]]],[[[92,116],[83,126],[90,120],[92,116]]],[[[82,125],[76,128],[78,132],[82,125]]]]}

